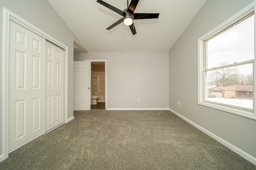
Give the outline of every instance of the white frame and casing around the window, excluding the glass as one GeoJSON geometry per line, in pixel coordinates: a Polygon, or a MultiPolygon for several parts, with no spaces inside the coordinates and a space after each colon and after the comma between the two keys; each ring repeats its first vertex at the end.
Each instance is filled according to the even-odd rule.
{"type": "MultiPolygon", "coordinates": [[[[256,87],[254,86],[254,83],[253,83],[253,99],[254,99],[253,100],[253,106],[254,106],[253,112],[236,109],[236,108],[232,108],[232,107],[221,106],[221,105],[213,104],[213,103],[209,103],[209,102],[204,102],[204,96],[207,94],[207,84],[206,84],[206,79],[205,79],[206,75],[204,75],[204,74],[206,74],[204,72],[204,51],[206,50],[206,49],[204,49],[204,47],[205,47],[204,41],[206,39],[209,39],[209,37],[211,37],[212,35],[215,35],[216,33],[229,27],[232,23],[236,23],[236,21],[240,20],[243,16],[250,14],[251,12],[253,12],[256,9],[255,7],[256,7],[256,1],[252,2],[251,4],[246,6],[246,8],[242,9],[240,12],[238,12],[237,14],[235,14],[228,20],[224,21],[218,27],[212,29],[212,31],[206,33],[204,36],[202,36],[198,39],[198,104],[207,106],[207,107],[212,107],[214,109],[226,111],[229,113],[234,113],[236,115],[248,117],[250,119],[256,119],[256,111],[255,111],[256,87]]],[[[255,42],[254,43],[254,60],[256,59],[256,17],[255,17],[255,14],[256,13],[254,12],[254,42],[255,42]]],[[[254,78],[254,82],[255,82],[255,80],[256,80],[256,62],[254,62],[254,60],[252,60],[251,62],[253,63],[253,67],[254,67],[254,70],[253,70],[254,77],[253,78],[254,78]]]]}

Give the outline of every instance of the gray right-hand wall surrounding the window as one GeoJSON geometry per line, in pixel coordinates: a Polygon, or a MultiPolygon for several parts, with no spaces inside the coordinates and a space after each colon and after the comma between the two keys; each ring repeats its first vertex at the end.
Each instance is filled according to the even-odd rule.
{"type": "Polygon", "coordinates": [[[256,120],[198,105],[198,39],[253,0],[208,0],[169,51],[170,109],[256,158],[256,120]],[[180,106],[178,106],[180,101],[180,106]]]}

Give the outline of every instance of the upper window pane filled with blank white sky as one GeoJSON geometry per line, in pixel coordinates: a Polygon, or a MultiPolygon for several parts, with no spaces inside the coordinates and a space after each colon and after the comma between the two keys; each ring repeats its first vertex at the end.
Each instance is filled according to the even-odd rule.
{"type": "Polygon", "coordinates": [[[207,68],[254,59],[254,15],[207,41],[207,68]]]}

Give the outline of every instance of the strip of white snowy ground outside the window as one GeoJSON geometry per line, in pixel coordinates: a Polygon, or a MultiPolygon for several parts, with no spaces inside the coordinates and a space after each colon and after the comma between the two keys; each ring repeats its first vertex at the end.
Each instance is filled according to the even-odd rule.
{"type": "Polygon", "coordinates": [[[249,109],[253,108],[253,100],[250,99],[229,99],[229,98],[207,98],[208,101],[218,102],[223,104],[229,104],[233,106],[246,107],[249,109]]]}

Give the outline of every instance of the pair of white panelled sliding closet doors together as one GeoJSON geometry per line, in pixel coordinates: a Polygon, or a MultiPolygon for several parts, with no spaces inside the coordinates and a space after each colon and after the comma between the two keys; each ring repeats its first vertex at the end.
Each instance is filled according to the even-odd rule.
{"type": "Polygon", "coordinates": [[[64,50],[11,20],[9,30],[10,153],[63,123],[64,50]]]}

